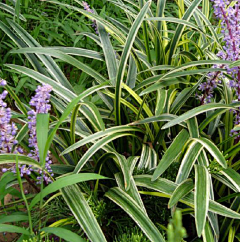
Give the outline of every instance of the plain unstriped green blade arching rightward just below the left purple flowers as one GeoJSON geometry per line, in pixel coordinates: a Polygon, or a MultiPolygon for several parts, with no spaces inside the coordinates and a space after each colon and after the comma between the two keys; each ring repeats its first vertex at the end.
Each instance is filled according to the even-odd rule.
{"type": "Polygon", "coordinates": [[[34,205],[36,205],[42,196],[42,198],[46,197],[48,194],[56,192],[66,186],[70,186],[79,182],[89,181],[89,180],[97,180],[97,179],[107,179],[106,177],[100,176],[94,173],[81,173],[81,174],[71,174],[64,177],[61,177],[49,184],[42,190],[42,195],[38,193],[33,200],[31,201],[29,207],[32,209],[34,205]]]}

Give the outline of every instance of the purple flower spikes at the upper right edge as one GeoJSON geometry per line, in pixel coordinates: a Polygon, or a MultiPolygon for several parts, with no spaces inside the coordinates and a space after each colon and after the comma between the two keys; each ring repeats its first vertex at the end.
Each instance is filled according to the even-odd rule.
{"type": "MultiPolygon", "coordinates": [[[[217,56],[222,60],[236,61],[240,57],[240,3],[229,6],[229,0],[212,0],[215,16],[220,20],[221,33],[225,45],[217,56]]],[[[235,89],[238,101],[240,101],[240,70],[238,67],[229,68],[228,65],[214,65],[213,68],[225,68],[231,76],[230,87],[235,89]]],[[[221,72],[210,73],[207,81],[202,83],[199,90],[203,92],[202,103],[209,103],[213,97],[213,90],[223,77],[221,72]]]]}

